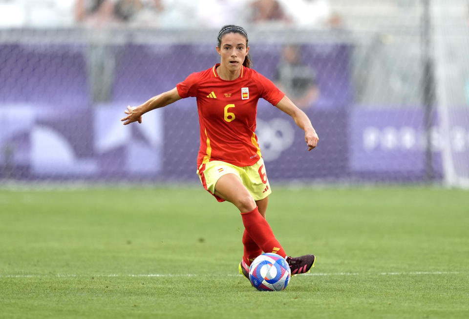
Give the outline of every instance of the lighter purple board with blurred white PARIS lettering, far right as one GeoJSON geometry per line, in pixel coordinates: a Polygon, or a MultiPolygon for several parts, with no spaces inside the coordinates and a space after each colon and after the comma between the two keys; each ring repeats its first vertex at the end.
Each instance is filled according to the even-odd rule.
{"type": "Polygon", "coordinates": [[[427,178],[429,162],[433,178],[442,179],[446,158],[454,174],[468,176],[469,109],[435,110],[429,135],[424,116],[423,108],[415,106],[354,107],[350,113],[350,175],[419,181],[427,178]]]}

